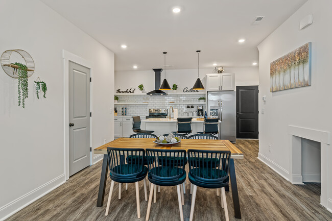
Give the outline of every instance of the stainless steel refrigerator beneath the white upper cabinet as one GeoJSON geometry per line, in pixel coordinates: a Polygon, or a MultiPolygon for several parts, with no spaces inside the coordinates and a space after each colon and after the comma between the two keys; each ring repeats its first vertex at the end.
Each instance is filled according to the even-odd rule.
{"type": "Polygon", "coordinates": [[[207,116],[221,120],[218,138],[236,140],[236,96],[235,91],[207,92],[207,116]]]}

